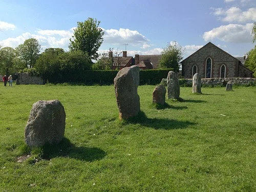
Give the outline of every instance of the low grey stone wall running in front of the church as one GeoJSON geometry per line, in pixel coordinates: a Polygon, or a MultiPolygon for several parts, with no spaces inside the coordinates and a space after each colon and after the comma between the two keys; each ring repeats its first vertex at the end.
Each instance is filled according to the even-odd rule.
{"type": "MultiPolygon", "coordinates": [[[[192,87],[193,79],[180,79],[181,87],[192,87]]],[[[250,86],[256,84],[256,78],[209,78],[201,79],[202,85],[205,86],[226,86],[227,82],[231,81],[232,84],[238,84],[240,86],[250,86]]],[[[166,79],[162,79],[162,84],[166,86],[166,79]]]]}

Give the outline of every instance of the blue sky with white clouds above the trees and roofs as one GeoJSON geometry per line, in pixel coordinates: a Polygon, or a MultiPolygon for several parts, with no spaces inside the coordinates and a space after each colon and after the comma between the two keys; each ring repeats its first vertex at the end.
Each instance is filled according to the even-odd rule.
{"type": "Polygon", "coordinates": [[[0,45],[17,47],[36,38],[42,49],[69,50],[77,22],[100,20],[104,41],[99,51],[127,55],[161,54],[168,42],[184,47],[184,58],[211,41],[233,56],[254,48],[255,0],[82,1],[1,0],[0,45]]]}

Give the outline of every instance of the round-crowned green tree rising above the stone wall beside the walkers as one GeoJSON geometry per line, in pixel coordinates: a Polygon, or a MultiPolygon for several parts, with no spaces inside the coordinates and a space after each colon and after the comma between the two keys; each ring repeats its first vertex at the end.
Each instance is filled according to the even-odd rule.
{"type": "Polygon", "coordinates": [[[24,41],[24,44],[20,44],[16,51],[19,58],[25,63],[24,68],[32,68],[35,65],[36,59],[39,56],[41,45],[35,38],[30,38],[24,41]]]}

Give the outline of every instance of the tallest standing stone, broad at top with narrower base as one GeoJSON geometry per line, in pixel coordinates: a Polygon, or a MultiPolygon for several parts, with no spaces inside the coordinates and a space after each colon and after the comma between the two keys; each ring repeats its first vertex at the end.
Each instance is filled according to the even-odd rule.
{"type": "Polygon", "coordinates": [[[140,68],[138,66],[123,68],[114,79],[120,119],[137,116],[140,112],[140,97],[137,92],[139,72],[140,68]]]}

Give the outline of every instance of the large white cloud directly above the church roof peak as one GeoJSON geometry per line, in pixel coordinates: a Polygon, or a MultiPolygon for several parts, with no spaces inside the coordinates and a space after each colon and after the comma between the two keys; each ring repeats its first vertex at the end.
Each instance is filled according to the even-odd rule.
{"type": "Polygon", "coordinates": [[[204,33],[203,38],[205,41],[212,39],[220,39],[225,42],[251,42],[251,31],[253,24],[239,25],[229,24],[226,26],[220,26],[204,33]]]}

